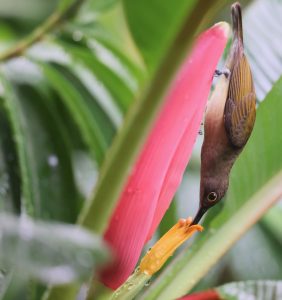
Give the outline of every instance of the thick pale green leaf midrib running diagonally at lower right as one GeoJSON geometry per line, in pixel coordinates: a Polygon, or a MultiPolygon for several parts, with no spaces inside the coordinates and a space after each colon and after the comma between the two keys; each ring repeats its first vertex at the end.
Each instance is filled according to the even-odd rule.
{"type": "Polygon", "coordinates": [[[192,257],[183,253],[141,298],[177,299],[189,292],[228,249],[282,196],[282,171],[253,195],[192,257]]]}

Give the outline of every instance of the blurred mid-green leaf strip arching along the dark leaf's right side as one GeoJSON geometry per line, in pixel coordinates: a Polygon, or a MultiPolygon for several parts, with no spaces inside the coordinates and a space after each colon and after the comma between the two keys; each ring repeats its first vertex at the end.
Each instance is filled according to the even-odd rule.
{"type": "Polygon", "coordinates": [[[101,164],[114,134],[114,128],[108,117],[79,79],[66,68],[42,64],[42,69],[80,127],[91,153],[98,164],[101,164]]]}

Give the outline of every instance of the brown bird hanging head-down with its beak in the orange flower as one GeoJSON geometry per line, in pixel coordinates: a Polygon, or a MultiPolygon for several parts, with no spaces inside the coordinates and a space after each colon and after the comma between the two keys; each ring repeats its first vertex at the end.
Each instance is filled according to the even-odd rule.
{"type": "Polygon", "coordinates": [[[256,119],[256,94],[250,65],[244,53],[239,2],[231,6],[233,39],[224,71],[209,100],[201,149],[199,209],[191,225],[227,192],[231,168],[244,149],[256,119]]]}

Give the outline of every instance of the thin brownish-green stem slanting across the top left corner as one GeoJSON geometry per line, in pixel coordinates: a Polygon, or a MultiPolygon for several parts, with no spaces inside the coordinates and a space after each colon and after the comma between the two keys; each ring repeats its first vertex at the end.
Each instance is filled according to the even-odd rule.
{"type": "Polygon", "coordinates": [[[0,54],[0,62],[22,55],[33,44],[40,41],[47,33],[57,28],[63,21],[73,17],[85,0],[75,0],[63,10],[56,10],[43,24],[37,27],[27,37],[0,54]]]}

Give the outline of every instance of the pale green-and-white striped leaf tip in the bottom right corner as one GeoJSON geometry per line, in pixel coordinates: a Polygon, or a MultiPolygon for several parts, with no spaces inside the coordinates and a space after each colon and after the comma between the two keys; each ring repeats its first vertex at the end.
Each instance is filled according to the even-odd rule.
{"type": "Polygon", "coordinates": [[[258,280],[224,284],[216,291],[226,300],[272,299],[282,297],[282,281],[258,280]]]}

